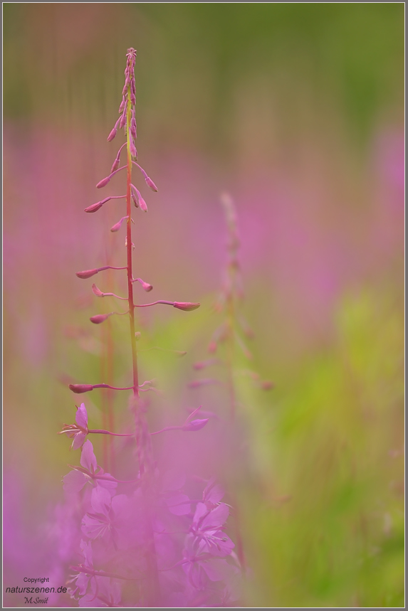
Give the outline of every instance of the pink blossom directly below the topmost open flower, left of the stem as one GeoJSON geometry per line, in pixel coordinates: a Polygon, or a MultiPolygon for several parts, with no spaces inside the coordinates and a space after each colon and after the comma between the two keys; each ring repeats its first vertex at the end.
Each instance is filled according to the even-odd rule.
{"type": "Polygon", "coordinates": [[[73,467],[67,475],[63,477],[63,489],[66,492],[79,492],[83,489],[87,482],[92,482],[93,485],[102,486],[110,490],[110,494],[115,494],[117,482],[110,475],[105,473],[102,467],[98,467],[95,454],[93,453],[93,445],[90,440],[85,441],[80,453],[81,467],[73,467]]]}

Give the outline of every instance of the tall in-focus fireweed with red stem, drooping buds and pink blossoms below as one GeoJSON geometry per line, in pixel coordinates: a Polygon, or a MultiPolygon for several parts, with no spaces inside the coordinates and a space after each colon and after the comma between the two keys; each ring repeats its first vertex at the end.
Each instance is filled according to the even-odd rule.
{"type": "Polygon", "coordinates": [[[63,426],[61,433],[72,440],[71,448],[80,450],[77,461],[80,464],[69,465],[72,470],[63,477],[63,488],[71,499],[78,498],[77,506],[82,514],[78,561],[70,565],[73,574],[68,581],[68,592],[80,607],[234,606],[238,598],[236,581],[240,568],[234,543],[225,532],[229,506],[221,502],[224,489],[214,478],[199,478],[203,482],[202,494],[199,499],[189,498],[184,492],[184,474],[174,469],[159,471],[152,452],[152,435],[166,434],[170,430],[199,435],[198,431],[208,418],[200,418],[200,408],[196,408],[182,425],[150,432],[147,402],[142,393],[152,386],[149,381],[140,383],[138,376],[135,309],[165,304],[189,312],[199,304],[164,300],[139,304],[134,301],[135,283],[146,292],[152,290],[152,285],[133,275],[132,203],[138,211],[144,212],[147,204],[133,184],[132,170],[140,172],[147,186],[157,191],[155,183],[137,163],[135,59],[135,49],[128,49],[120,117],[108,136],[110,142],[118,130],[123,129],[125,143],[117,152],[110,174],[97,185],[103,188],[113,176],[125,171],[126,193],[103,198],[85,208],[86,213],[95,213],[109,201],[125,200],[126,214],[111,231],[126,224],[126,265],[104,265],[77,272],[83,280],[105,270],[120,270],[120,273],[124,270],[127,274],[126,297],[92,285],[97,297],[115,297],[125,302],[127,309],[96,314],[90,321],[103,324],[117,315],[129,318],[132,380],[124,388],[106,383],[70,384],[70,390],[77,394],[98,388],[130,391],[134,432],[90,429],[85,403],[77,407],[75,423],[63,426]],[[120,166],[122,152],[125,152],[126,163],[120,166]],[[134,479],[117,479],[115,474],[104,471],[95,456],[91,435],[125,437],[135,445],[134,479]]]}

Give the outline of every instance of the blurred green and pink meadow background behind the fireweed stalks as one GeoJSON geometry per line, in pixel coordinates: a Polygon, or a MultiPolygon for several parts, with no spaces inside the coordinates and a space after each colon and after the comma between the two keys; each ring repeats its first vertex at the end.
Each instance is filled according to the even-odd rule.
{"type": "MultiPolygon", "coordinates": [[[[117,150],[106,137],[134,46],[139,158],[159,186],[135,218],[137,273],[157,299],[202,302],[143,312],[141,349],[188,354],[149,351],[142,372],[172,405],[195,402],[226,189],[250,368],[275,383],[240,386],[248,606],[403,606],[404,4],[3,7],[6,575],[36,565],[62,498],[66,381],[100,376],[107,331],[88,317],[108,309],[75,271],[122,257],[122,236],[107,237],[118,213],[83,208],[117,150]]],[[[120,383],[126,334],[111,329],[120,383]]]]}

